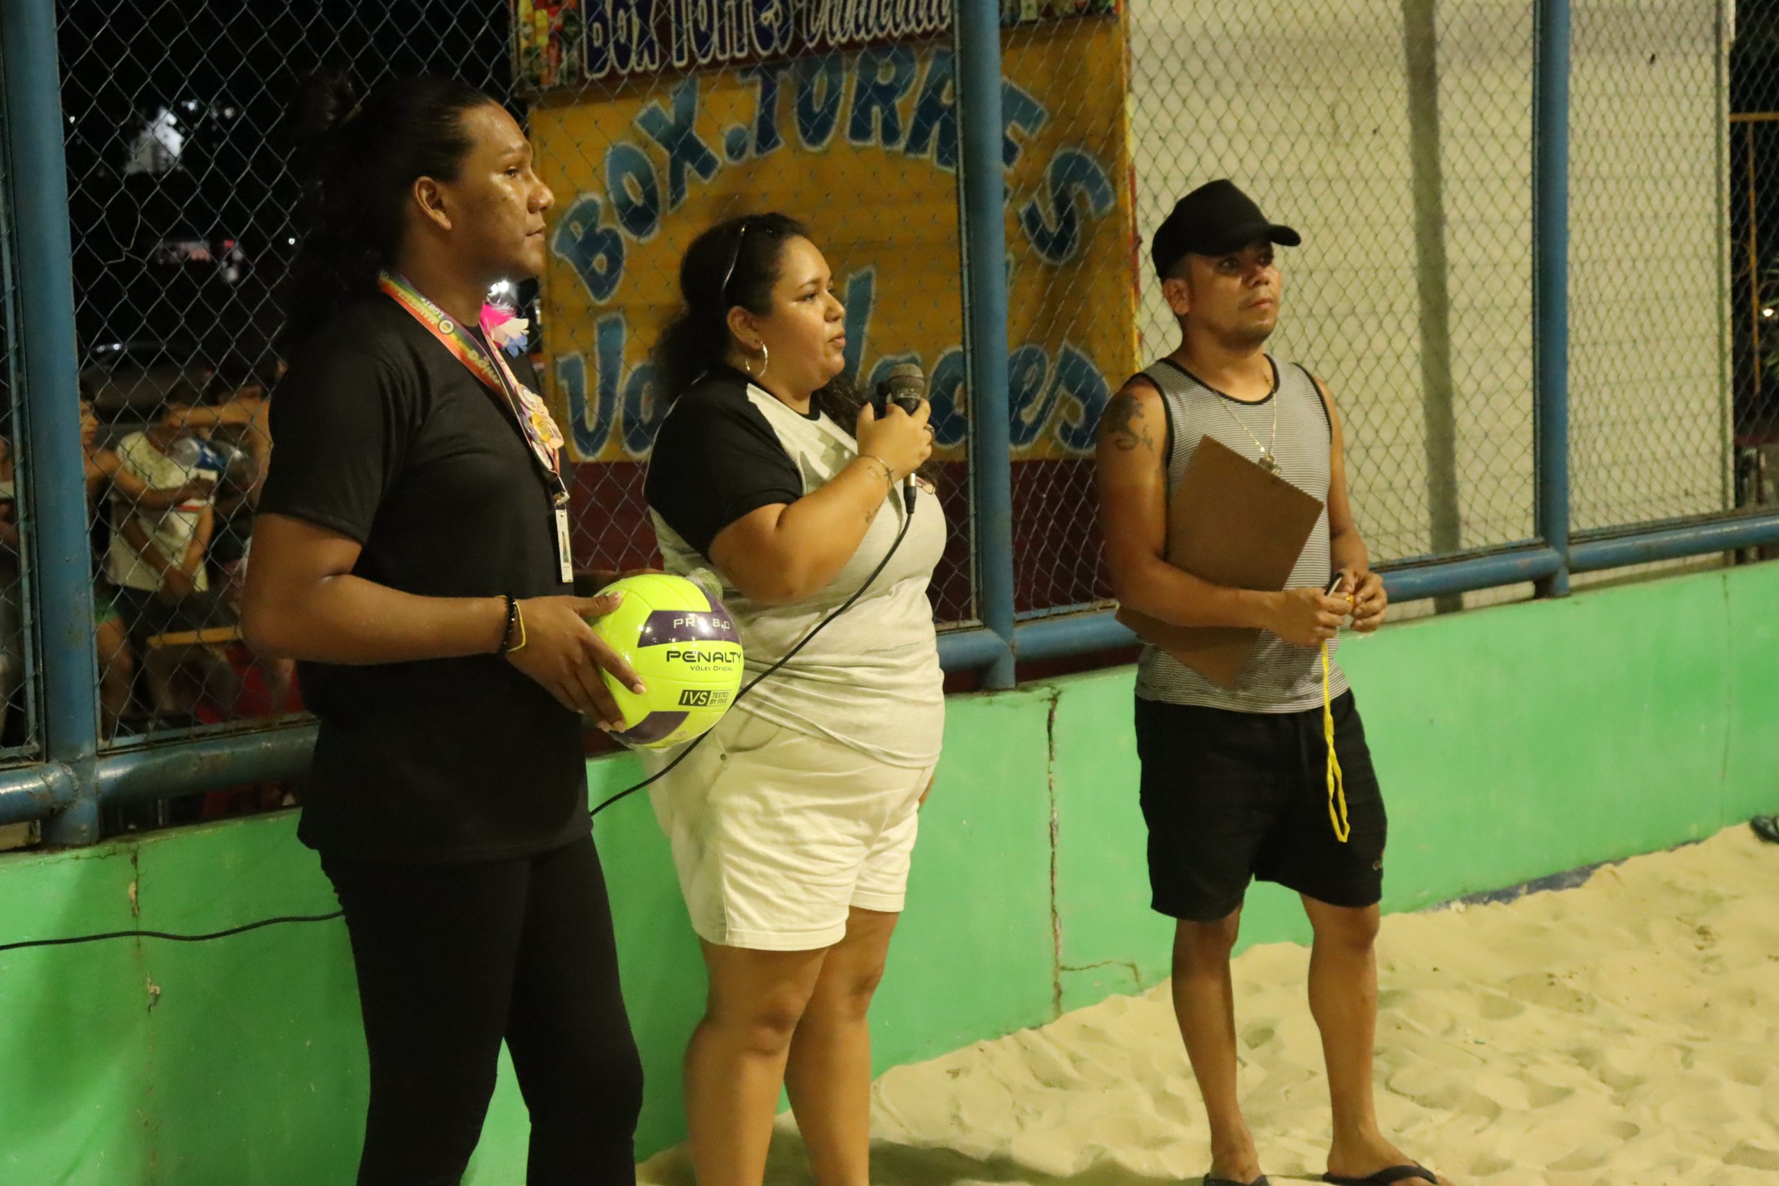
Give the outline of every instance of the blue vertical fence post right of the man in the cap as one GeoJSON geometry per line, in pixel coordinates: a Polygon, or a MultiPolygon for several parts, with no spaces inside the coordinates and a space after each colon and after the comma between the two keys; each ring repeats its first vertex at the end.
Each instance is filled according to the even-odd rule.
{"type": "Polygon", "coordinates": [[[1537,533],[1562,560],[1539,594],[1569,592],[1569,0],[1537,0],[1532,76],[1532,398],[1537,533]]]}

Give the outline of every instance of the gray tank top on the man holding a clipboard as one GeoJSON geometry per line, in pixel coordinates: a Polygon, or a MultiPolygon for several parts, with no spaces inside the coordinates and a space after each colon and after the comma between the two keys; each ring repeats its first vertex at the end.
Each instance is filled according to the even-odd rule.
{"type": "MultiPolygon", "coordinates": [[[[1249,461],[1260,461],[1260,445],[1272,437],[1274,405],[1277,405],[1279,432],[1272,453],[1279,461],[1279,475],[1327,503],[1329,496],[1329,416],[1315,382],[1302,366],[1272,365],[1272,395],[1260,404],[1244,404],[1219,393],[1195,379],[1172,359],[1162,359],[1147,370],[1162,391],[1167,407],[1167,496],[1172,500],[1187,464],[1199,441],[1211,437],[1228,445],[1249,461]]],[[[1332,580],[1329,560],[1329,514],[1309,532],[1309,542],[1297,557],[1297,565],[1286,589],[1304,585],[1327,587],[1332,580]]],[[[1329,644],[1332,660],[1336,644],[1329,644]]],[[[1347,690],[1347,676],[1338,663],[1329,669],[1329,693],[1347,690]]],[[[1137,661],[1137,695],[1167,704],[1203,704],[1242,713],[1295,713],[1322,706],[1322,651],[1295,647],[1270,631],[1261,631],[1260,644],[1235,688],[1224,688],[1197,674],[1158,647],[1146,645],[1137,661]]]]}

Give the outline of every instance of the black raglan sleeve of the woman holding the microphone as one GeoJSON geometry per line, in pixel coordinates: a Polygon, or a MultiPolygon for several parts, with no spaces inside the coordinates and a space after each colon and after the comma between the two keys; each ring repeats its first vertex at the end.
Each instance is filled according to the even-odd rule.
{"type": "Polygon", "coordinates": [[[649,452],[642,496],[708,558],[722,528],[761,507],[797,501],[802,485],[777,430],[747,398],[747,375],[719,366],[674,400],[649,452]]]}

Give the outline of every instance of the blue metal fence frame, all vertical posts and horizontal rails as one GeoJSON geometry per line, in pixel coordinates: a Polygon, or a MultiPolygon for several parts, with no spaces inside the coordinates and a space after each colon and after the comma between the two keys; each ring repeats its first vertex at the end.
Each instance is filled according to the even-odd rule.
{"type": "MultiPolygon", "coordinates": [[[[957,4],[959,213],[970,377],[970,461],[977,612],[984,626],[941,635],[950,672],[1014,683],[1019,660],[1135,642],[1108,610],[1014,612],[1012,464],[1007,409],[1005,176],[998,0],[957,4]]],[[[1562,596],[1573,573],[1779,544],[1779,514],[1735,514],[1571,539],[1567,450],[1569,2],[1535,0],[1533,405],[1535,539],[1457,557],[1384,565],[1395,601],[1535,581],[1562,596]]],[[[313,724],[98,752],[93,590],[76,420],[76,356],[53,0],[0,4],[4,135],[18,240],[18,352],[23,377],[23,500],[30,510],[30,603],[43,665],[44,761],[0,770],[0,823],[46,820],[53,843],[98,832],[98,805],[194,793],[304,770],[313,724]]]]}

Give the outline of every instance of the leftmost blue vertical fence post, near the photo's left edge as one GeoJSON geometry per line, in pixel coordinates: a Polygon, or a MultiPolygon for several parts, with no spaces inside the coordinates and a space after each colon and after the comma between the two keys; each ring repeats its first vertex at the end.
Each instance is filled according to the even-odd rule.
{"type": "Polygon", "coordinates": [[[18,343],[23,363],[20,485],[37,624],[44,759],[73,772],[75,802],[44,839],[98,839],[98,660],[93,653],[93,555],[80,452],[73,249],[53,0],[0,4],[0,73],[18,235],[18,343]]]}

